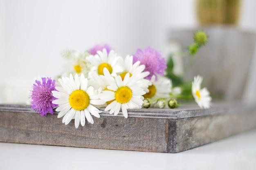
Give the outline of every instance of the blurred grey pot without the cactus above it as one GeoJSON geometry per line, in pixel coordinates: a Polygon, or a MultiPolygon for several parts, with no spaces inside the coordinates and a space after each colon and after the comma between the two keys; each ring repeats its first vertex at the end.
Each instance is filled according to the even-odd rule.
{"type": "Polygon", "coordinates": [[[195,56],[183,58],[184,67],[193,60],[183,75],[184,79],[191,81],[195,75],[204,77],[203,84],[215,101],[242,100],[250,79],[249,68],[253,66],[256,35],[230,26],[204,26],[173,30],[170,39],[180,42],[182,49],[186,50],[198,29],[209,35],[208,43],[195,56]]]}

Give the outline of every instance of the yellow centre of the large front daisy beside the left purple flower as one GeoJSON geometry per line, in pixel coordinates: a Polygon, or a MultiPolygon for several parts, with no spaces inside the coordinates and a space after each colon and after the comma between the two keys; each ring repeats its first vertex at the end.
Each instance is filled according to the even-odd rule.
{"type": "Polygon", "coordinates": [[[75,110],[84,110],[90,104],[89,95],[83,90],[73,91],[70,95],[70,105],[75,110]]]}

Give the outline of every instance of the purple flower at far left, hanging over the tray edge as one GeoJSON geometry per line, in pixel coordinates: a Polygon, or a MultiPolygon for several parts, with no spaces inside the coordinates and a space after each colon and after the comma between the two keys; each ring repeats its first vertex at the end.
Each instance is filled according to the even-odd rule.
{"type": "Polygon", "coordinates": [[[31,108],[41,113],[41,116],[47,115],[47,113],[53,114],[53,107],[58,106],[52,104],[52,101],[56,99],[52,95],[54,90],[56,90],[55,80],[49,77],[42,77],[42,82],[36,80],[31,91],[31,108]]]}

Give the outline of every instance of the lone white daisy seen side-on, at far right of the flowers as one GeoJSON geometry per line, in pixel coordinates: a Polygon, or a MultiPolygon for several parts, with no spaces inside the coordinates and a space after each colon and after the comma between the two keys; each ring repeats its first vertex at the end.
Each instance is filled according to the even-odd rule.
{"type": "Polygon", "coordinates": [[[202,81],[203,78],[200,75],[194,77],[194,81],[192,82],[192,95],[200,108],[210,108],[210,93],[207,88],[201,89],[202,81]]]}

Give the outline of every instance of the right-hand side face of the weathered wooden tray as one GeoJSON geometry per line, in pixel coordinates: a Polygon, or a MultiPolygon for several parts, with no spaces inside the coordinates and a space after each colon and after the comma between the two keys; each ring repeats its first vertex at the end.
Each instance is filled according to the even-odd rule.
{"type": "Polygon", "coordinates": [[[178,119],[176,146],[169,152],[181,152],[238,134],[256,127],[256,113],[220,114],[178,119]]]}

